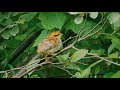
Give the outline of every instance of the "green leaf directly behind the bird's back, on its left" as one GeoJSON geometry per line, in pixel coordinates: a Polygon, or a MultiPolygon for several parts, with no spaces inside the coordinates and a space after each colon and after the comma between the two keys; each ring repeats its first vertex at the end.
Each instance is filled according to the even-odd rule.
{"type": "Polygon", "coordinates": [[[50,30],[43,30],[38,38],[35,40],[33,47],[38,46],[38,44],[50,33],[50,30]]]}

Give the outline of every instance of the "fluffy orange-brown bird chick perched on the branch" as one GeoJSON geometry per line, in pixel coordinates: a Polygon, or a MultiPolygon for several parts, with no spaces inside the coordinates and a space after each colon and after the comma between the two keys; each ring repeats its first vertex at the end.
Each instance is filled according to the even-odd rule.
{"type": "Polygon", "coordinates": [[[62,47],[61,37],[62,33],[60,33],[59,31],[52,32],[39,43],[37,53],[45,56],[53,55],[62,47]]]}

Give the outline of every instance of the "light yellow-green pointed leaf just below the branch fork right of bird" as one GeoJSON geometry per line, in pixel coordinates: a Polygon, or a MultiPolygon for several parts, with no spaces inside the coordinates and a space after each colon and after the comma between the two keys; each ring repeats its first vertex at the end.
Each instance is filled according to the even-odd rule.
{"type": "Polygon", "coordinates": [[[81,49],[79,51],[76,51],[70,58],[70,62],[77,62],[78,60],[82,59],[86,54],[88,53],[88,50],[81,49]]]}

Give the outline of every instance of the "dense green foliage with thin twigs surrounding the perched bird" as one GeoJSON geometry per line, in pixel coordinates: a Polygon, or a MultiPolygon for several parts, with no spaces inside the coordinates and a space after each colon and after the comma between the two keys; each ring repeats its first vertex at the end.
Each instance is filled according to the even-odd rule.
{"type": "Polygon", "coordinates": [[[15,75],[16,68],[26,65],[38,43],[52,31],[63,34],[63,48],[50,63],[28,72],[24,78],[120,77],[119,12],[1,12],[0,77],[15,75]],[[33,33],[35,39],[27,39],[33,33]]]}

